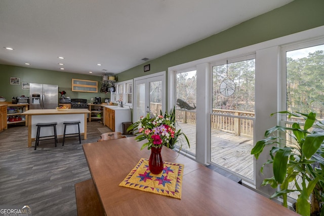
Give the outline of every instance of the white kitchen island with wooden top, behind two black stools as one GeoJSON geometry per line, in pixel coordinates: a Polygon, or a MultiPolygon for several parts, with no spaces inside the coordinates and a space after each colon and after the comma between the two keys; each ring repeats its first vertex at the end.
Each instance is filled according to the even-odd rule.
{"type": "MultiPolygon", "coordinates": [[[[91,114],[88,109],[68,109],[64,111],[58,111],[56,109],[44,109],[44,110],[28,110],[24,112],[24,115],[28,115],[28,143],[27,147],[31,147],[31,142],[36,138],[38,123],[50,123],[57,122],[56,130],[57,135],[63,135],[64,133],[64,121],[80,121],[80,133],[84,135],[84,139],[87,139],[87,114],[91,114]]],[[[27,118],[26,118],[27,119],[27,118]]],[[[77,127],[67,127],[66,133],[77,133],[77,127]]],[[[42,128],[42,136],[52,135],[53,128],[42,128]]]]}

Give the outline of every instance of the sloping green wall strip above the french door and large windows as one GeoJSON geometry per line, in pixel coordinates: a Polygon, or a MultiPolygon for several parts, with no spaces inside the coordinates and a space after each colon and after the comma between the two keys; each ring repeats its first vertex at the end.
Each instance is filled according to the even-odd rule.
{"type": "MultiPolygon", "coordinates": [[[[217,55],[324,25],[323,0],[295,0],[209,38],[147,61],[117,75],[118,81],[168,71],[168,67],[217,55]],[[150,71],[143,67],[150,64],[150,71]]],[[[192,29],[194,31],[194,29],[192,29]]],[[[148,56],[149,57],[149,56],[148,56]]]]}

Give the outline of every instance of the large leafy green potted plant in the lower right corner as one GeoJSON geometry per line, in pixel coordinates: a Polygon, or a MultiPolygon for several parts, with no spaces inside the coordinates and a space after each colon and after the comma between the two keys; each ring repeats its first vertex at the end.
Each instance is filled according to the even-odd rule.
{"type": "MultiPolygon", "coordinates": [[[[281,114],[289,114],[288,118],[302,117],[305,120],[303,129],[298,122],[292,124],[291,127],[275,126],[265,132],[265,139],[259,140],[252,149],[251,154],[256,159],[259,158],[263,149],[267,145],[273,145],[269,154],[271,159],[263,164],[272,164],[273,176],[265,178],[262,186],[270,185],[272,188],[278,188],[270,198],[282,197],[282,205],[288,207],[287,194],[297,191],[298,199],[296,202],[296,211],[301,215],[310,215],[310,195],[315,192],[316,198],[320,203],[319,208],[323,204],[324,195],[322,187],[324,185],[324,124],[316,119],[316,114],[291,113],[288,111],[278,112],[281,114]],[[299,114],[299,115],[297,115],[299,114]],[[321,129],[309,131],[313,126],[321,129]],[[291,136],[292,143],[285,145],[286,139],[280,136],[280,132],[291,136]],[[282,143],[283,141],[284,143],[282,143]],[[317,167],[314,166],[317,164],[317,167]],[[289,189],[289,183],[295,183],[296,189],[289,189]]],[[[274,115],[276,113],[271,114],[274,115]]],[[[261,172],[263,171],[261,167],[261,172]]],[[[324,215],[324,208],[320,209],[320,215],[324,215]]]]}

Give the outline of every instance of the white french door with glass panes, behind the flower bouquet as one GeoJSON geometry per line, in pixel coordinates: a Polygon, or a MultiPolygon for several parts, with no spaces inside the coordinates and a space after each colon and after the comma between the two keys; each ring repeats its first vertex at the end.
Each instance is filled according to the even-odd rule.
{"type": "Polygon", "coordinates": [[[147,113],[165,113],[166,72],[134,79],[134,93],[134,122],[147,113]]]}

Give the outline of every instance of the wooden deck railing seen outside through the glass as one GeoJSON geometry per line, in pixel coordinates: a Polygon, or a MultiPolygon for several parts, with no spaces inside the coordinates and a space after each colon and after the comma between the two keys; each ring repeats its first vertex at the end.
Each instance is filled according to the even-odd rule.
{"type": "MultiPolygon", "coordinates": [[[[151,112],[159,114],[160,103],[150,103],[151,112]]],[[[253,112],[213,109],[211,128],[219,129],[237,136],[253,136],[253,112]]],[[[196,124],[196,111],[176,109],[176,120],[183,123],[196,124]]]]}

